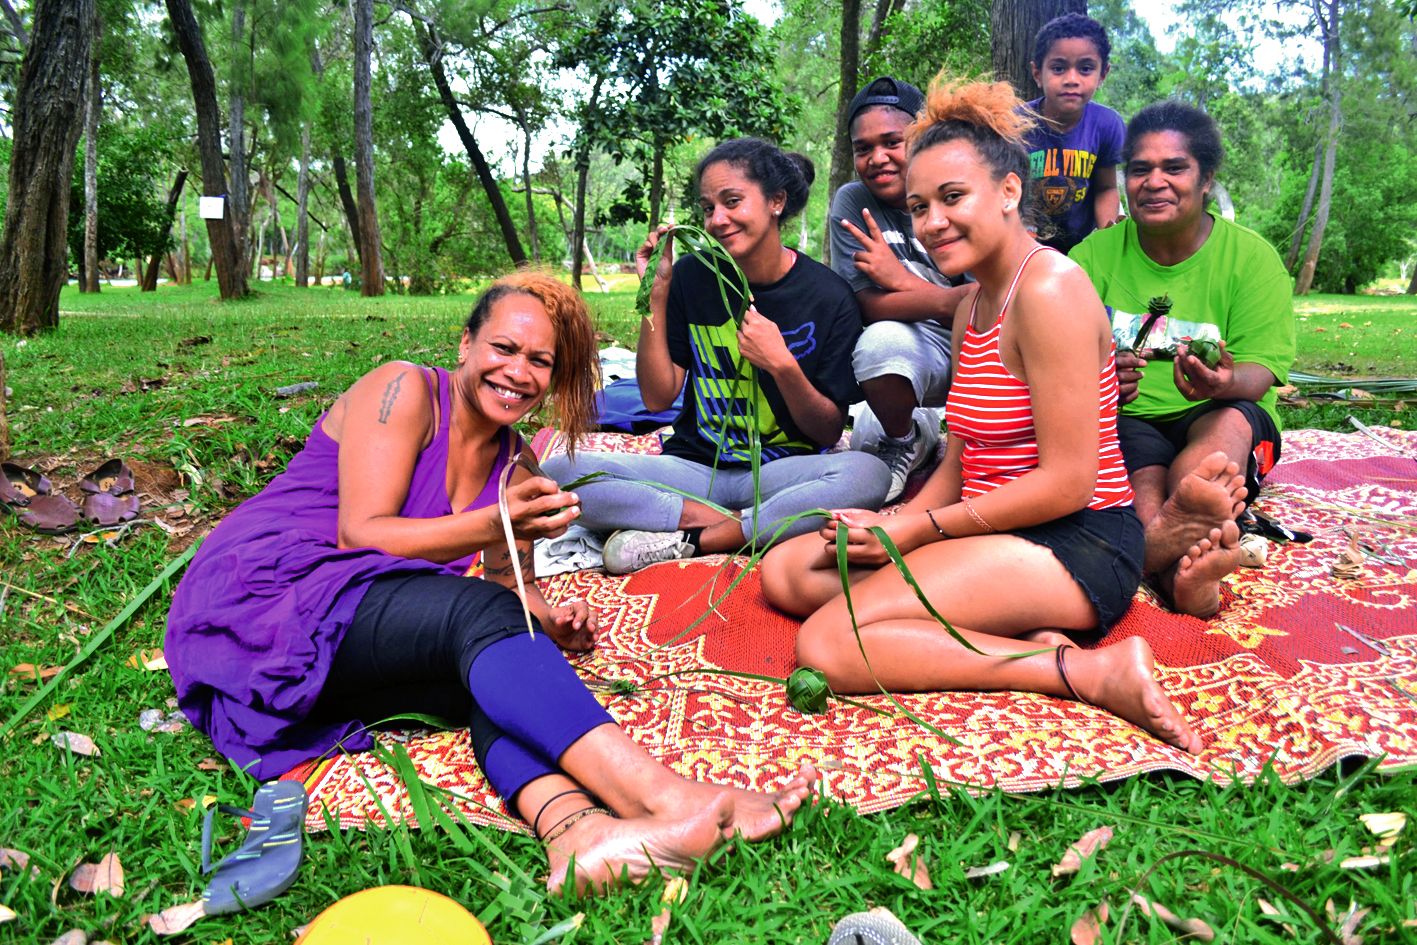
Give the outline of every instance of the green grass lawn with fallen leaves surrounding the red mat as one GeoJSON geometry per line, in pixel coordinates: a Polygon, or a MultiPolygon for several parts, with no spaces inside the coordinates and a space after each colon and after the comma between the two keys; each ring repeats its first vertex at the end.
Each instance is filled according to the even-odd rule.
{"type": "MultiPolygon", "coordinates": [[[[74,548],[69,540],[0,520],[0,579],[11,585],[0,587],[0,723],[34,691],[6,670],[68,662],[191,537],[281,469],[319,412],[363,371],[393,357],[451,363],[470,305],[470,298],[366,300],[339,289],[288,286],[262,286],[258,299],[239,305],[217,305],[211,295],[214,288],[203,285],[146,296],[67,290],[58,332],[24,344],[0,337],[14,388],[16,459],[45,460],[64,485],[106,455],[143,460],[170,476],[171,504],[153,511],[174,527],[194,526],[184,536],[145,526],[115,547],[74,548]],[[153,385],[156,380],[162,384],[153,385]],[[307,380],[320,387],[290,400],[272,392],[307,380]],[[207,419],[184,425],[193,418],[207,419]]],[[[601,330],[632,346],[631,290],[589,299],[601,330]]],[[[1332,373],[1342,361],[1355,373],[1413,374],[1417,300],[1319,296],[1301,300],[1299,310],[1308,319],[1299,323],[1302,370],[1332,373]],[[1362,330],[1339,329],[1342,322],[1362,330]],[[1305,330],[1319,326],[1328,330],[1305,330]],[[1345,343],[1335,347],[1338,336],[1345,343]]],[[[1348,405],[1325,409],[1316,421],[1291,412],[1287,424],[1346,428],[1348,405]]],[[[1373,411],[1363,414],[1370,422],[1373,411]]],[[[139,713],[166,708],[173,689],[164,673],[126,663],[139,649],[160,646],[166,608],[167,594],[159,592],[0,742],[0,847],[30,853],[40,870],[34,880],[0,873],[0,904],[18,915],[0,924],[0,942],[44,945],[69,928],[95,939],[154,941],[136,925],[139,918],[196,898],[204,885],[200,813],[179,802],[204,795],[249,802],[245,776],[197,768],[215,754],[205,738],[191,730],[139,728],[139,713]],[[48,718],[60,706],[68,714],[48,718]],[[48,738],[62,730],[91,735],[102,754],[61,752],[48,738]],[[109,850],[128,873],[123,900],[79,895],[61,883],[77,863],[109,850]]],[[[1360,924],[1369,941],[1404,941],[1417,935],[1403,927],[1417,919],[1417,857],[1410,851],[1417,825],[1382,868],[1342,870],[1338,863],[1370,842],[1360,813],[1417,815],[1414,800],[1417,774],[1382,776],[1353,764],[1292,788],[1274,778],[1217,788],[1156,775],[1032,796],[944,789],[869,817],[828,802],[778,840],[717,854],[674,908],[666,941],[816,944],[826,941],[836,917],[887,905],[927,942],[1061,942],[1085,908],[1105,898],[1115,917],[1138,884],[1173,911],[1207,921],[1221,941],[1328,941],[1299,910],[1234,867],[1192,857],[1151,871],[1163,856],[1187,849],[1231,857],[1321,911],[1329,900],[1340,911],[1350,900],[1370,907],[1360,924]],[[1078,876],[1051,878],[1049,867],[1067,844],[1101,825],[1117,830],[1111,846],[1078,876]],[[908,832],[921,837],[932,891],[914,888],[884,861],[908,832]],[[964,878],[964,868],[998,860],[1010,868],[964,878]],[[1297,935],[1263,918],[1257,897],[1287,911],[1297,935]]],[[[230,820],[218,823],[218,851],[231,849],[238,832],[230,820]]],[[[452,895],[489,917],[497,942],[531,941],[577,912],[585,914],[584,924],[557,941],[650,938],[659,884],[604,901],[553,900],[541,891],[544,860],[533,842],[495,830],[478,836],[513,867],[480,843],[436,832],[312,837],[286,895],[249,915],[204,919],[174,941],[288,942],[293,928],[337,897],[387,883],[452,895]]],[[[1115,932],[1115,918],[1108,929],[1115,932]]],[[[1176,941],[1135,912],[1125,938],[1176,941]]]]}

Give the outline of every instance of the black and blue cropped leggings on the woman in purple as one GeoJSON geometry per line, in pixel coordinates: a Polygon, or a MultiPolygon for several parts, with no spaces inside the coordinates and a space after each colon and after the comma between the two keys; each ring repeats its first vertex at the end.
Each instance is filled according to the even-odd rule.
{"type": "Polygon", "coordinates": [[[466,720],[493,789],[561,774],[561,755],[614,724],[561,650],[506,588],[451,574],[400,572],[364,592],[315,714],[366,724],[400,713],[466,720]]]}

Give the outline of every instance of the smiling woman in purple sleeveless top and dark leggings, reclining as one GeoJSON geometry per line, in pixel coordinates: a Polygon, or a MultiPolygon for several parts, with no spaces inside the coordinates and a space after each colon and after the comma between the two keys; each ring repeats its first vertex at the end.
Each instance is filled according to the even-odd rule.
{"type": "MultiPolygon", "coordinates": [[[[595,343],[570,286],[496,282],[458,368],[394,361],[346,391],[265,490],[235,509],[173,596],[166,655],[183,711],[266,779],[405,713],[466,720],[487,781],[546,843],[548,885],[691,868],[728,836],[757,840],[811,793],[809,765],[777,793],[686,781],[635,745],[557,645],[594,645],[585,602],[527,633],[497,510],[544,398],[574,443],[592,417],[595,343]],[[486,579],[465,577],[480,561],[486,579]],[[574,857],[574,877],[568,867],[574,857]]],[[[580,516],[575,493],[517,465],[506,489],[519,557],[580,516]]]]}

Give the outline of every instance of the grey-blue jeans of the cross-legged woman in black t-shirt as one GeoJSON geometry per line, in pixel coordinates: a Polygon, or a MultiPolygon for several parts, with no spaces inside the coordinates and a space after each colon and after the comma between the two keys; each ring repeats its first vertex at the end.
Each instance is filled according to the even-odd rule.
{"type": "MultiPolygon", "coordinates": [[[[557,482],[571,482],[591,472],[611,473],[577,490],[580,523],[592,531],[679,528],[684,497],[659,489],[662,483],[741,511],[745,544],[754,536],[771,538],[788,519],[809,509],[880,509],[890,486],[886,463],[860,452],[785,456],[762,463],[757,509],[752,507],[751,469],[714,470],[677,456],[598,452],[577,453],[574,462],[563,453],[546,460],[543,468],[557,482]]],[[[799,519],[779,537],[806,534],[822,523],[820,517],[799,519]]]]}

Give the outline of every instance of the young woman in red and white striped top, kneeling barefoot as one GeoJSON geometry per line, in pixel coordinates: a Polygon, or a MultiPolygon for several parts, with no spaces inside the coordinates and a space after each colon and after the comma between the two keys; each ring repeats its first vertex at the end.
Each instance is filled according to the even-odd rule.
{"type": "Polygon", "coordinates": [[[1026,227],[1022,140],[1032,118],[1017,106],[1006,84],[941,75],[910,132],[915,237],[941,272],[976,279],[955,316],[945,460],[897,514],[839,510],[820,534],[774,550],[764,591],[806,618],[798,663],[825,672],[839,693],[1044,693],[1199,752],[1145,640],[1083,650],[1066,636],[1105,630],[1127,612],[1142,527],[1117,443],[1111,329],[1087,275],[1026,227]],[[836,523],[846,526],[860,645],[837,575],[836,523]],[[930,616],[873,526],[972,649],[930,616]],[[1019,653],[1032,656],[1005,659],[1019,653]]]}

